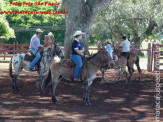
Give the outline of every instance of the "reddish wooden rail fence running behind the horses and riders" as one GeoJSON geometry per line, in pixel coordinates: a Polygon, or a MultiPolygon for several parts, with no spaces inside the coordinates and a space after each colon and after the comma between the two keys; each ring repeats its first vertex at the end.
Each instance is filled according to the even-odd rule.
{"type": "MultiPolygon", "coordinates": [[[[119,46],[119,43],[116,42],[114,44],[115,47],[119,46]]],[[[163,47],[163,45],[159,45],[159,44],[153,44],[151,45],[151,43],[148,43],[148,48],[147,49],[136,49],[135,48],[135,44],[131,43],[131,52],[138,52],[138,51],[146,51],[147,52],[147,70],[148,71],[152,71],[152,64],[153,64],[153,57],[154,57],[154,65],[156,65],[156,56],[158,55],[158,53],[156,52],[156,47],[163,47]]],[[[62,49],[64,50],[64,48],[62,47],[62,49]]],[[[89,50],[97,50],[97,48],[89,48],[89,50]]],[[[18,44],[18,43],[14,43],[14,44],[0,44],[0,58],[3,57],[8,58],[8,57],[12,57],[13,55],[15,55],[16,53],[26,53],[29,52],[29,44],[18,44]],[[7,53],[11,53],[11,55],[6,55],[7,53]]],[[[163,51],[160,51],[159,53],[163,53],[163,51]]],[[[159,57],[159,59],[163,59],[163,57],[159,57]]],[[[9,61],[0,61],[0,63],[8,63],[9,61]]],[[[160,65],[163,65],[163,63],[160,63],[160,65]]],[[[154,66],[154,68],[156,68],[154,66]]],[[[154,69],[156,70],[156,69],[154,69]]]]}

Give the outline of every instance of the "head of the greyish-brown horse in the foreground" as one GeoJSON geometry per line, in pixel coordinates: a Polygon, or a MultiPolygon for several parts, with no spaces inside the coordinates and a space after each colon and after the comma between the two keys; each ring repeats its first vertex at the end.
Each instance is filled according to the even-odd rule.
{"type": "Polygon", "coordinates": [[[101,63],[108,63],[108,65],[113,68],[115,63],[111,58],[110,54],[106,50],[101,50],[99,52],[101,63]]]}

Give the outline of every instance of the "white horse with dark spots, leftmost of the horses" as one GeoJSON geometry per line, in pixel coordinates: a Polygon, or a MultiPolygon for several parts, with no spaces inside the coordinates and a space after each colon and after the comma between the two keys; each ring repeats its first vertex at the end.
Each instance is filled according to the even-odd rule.
{"type": "MultiPolygon", "coordinates": [[[[43,81],[45,80],[45,76],[47,75],[50,64],[54,60],[54,56],[57,55],[61,58],[64,58],[62,50],[60,46],[56,43],[53,44],[53,46],[50,46],[46,48],[44,51],[42,51],[41,58],[35,65],[35,70],[38,72],[37,82],[36,82],[36,94],[39,93],[39,90],[43,91],[44,84],[43,81]]],[[[17,78],[19,76],[19,73],[22,71],[22,69],[25,69],[27,71],[30,70],[30,63],[34,59],[34,55],[31,52],[31,55],[28,53],[19,53],[14,55],[9,64],[9,75],[12,79],[12,89],[14,91],[20,92],[17,85],[17,78]],[[14,73],[12,69],[12,65],[14,67],[14,73]]]]}

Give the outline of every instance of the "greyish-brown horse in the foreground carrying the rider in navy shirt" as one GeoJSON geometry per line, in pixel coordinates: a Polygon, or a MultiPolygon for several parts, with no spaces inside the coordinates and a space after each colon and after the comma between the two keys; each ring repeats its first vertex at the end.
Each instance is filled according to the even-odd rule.
{"type": "MultiPolygon", "coordinates": [[[[106,50],[102,50],[88,58],[86,65],[84,65],[82,68],[82,77],[84,83],[83,102],[86,106],[91,105],[89,100],[90,86],[93,83],[93,80],[96,78],[97,71],[101,68],[103,63],[108,63],[110,67],[114,66],[114,61],[106,50]]],[[[69,67],[61,65],[61,62],[53,62],[50,67],[49,75],[45,81],[45,84],[48,84],[50,79],[52,79],[52,101],[54,104],[57,104],[55,91],[60,80],[62,78],[71,80],[69,70],[69,67]]]]}

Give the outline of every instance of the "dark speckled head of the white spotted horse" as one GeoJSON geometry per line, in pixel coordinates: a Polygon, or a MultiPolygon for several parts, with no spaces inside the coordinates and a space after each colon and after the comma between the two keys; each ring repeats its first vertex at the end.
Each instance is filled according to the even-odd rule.
{"type": "Polygon", "coordinates": [[[58,57],[63,59],[64,58],[64,54],[62,52],[61,47],[57,43],[53,42],[53,48],[54,48],[53,55],[54,56],[57,55],[58,57]]]}

